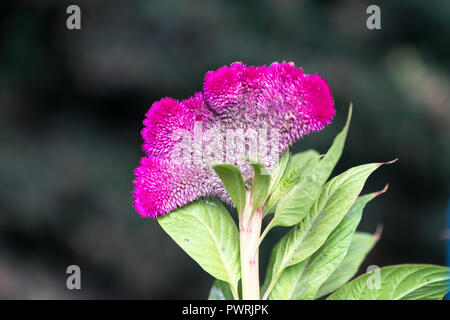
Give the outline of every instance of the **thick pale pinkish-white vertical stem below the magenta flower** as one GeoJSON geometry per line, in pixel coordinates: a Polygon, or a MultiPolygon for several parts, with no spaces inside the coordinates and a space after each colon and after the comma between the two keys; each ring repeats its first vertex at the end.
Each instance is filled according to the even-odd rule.
{"type": "Polygon", "coordinates": [[[246,205],[240,225],[242,299],[259,300],[259,236],[262,212],[258,208],[252,216],[253,199],[247,191],[246,205]]]}

